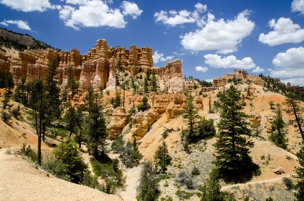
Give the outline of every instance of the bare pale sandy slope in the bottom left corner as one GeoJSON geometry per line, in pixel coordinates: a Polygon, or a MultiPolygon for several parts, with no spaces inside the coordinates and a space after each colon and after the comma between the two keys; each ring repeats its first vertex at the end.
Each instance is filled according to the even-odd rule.
{"type": "Polygon", "coordinates": [[[73,184],[35,169],[21,156],[0,149],[0,200],[122,200],[98,190],[73,184]]]}

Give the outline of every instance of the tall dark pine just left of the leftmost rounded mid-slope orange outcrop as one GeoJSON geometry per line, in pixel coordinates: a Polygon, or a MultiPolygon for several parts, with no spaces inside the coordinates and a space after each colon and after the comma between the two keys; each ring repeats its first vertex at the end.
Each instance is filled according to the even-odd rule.
{"type": "Polygon", "coordinates": [[[88,148],[93,151],[95,158],[98,157],[98,148],[104,150],[104,140],[107,137],[105,117],[102,112],[102,95],[94,92],[92,94],[90,114],[87,117],[86,134],[88,148]]]}

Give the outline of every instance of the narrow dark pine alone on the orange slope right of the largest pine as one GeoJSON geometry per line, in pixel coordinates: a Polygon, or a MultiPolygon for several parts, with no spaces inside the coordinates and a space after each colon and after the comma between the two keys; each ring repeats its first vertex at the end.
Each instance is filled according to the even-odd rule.
{"type": "Polygon", "coordinates": [[[275,120],[273,122],[274,130],[275,132],[270,135],[270,139],[282,149],[287,148],[287,139],[286,139],[286,132],[284,131],[284,128],[286,126],[284,120],[283,120],[283,113],[281,105],[277,104],[277,110],[276,110],[276,116],[275,120]]]}

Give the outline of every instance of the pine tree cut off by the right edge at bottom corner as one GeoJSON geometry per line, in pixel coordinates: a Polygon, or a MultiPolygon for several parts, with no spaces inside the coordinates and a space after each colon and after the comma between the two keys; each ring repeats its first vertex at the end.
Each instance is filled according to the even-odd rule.
{"type": "Polygon", "coordinates": [[[297,179],[297,183],[295,184],[295,189],[297,190],[295,197],[297,198],[297,201],[304,201],[304,146],[301,147],[296,155],[300,167],[295,169],[296,175],[292,176],[297,179]]]}

